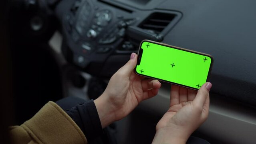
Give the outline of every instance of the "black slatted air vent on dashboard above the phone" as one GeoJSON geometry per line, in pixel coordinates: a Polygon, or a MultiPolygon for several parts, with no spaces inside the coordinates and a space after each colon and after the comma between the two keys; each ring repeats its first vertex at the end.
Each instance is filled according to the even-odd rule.
{"type": "Polygon", "coordinates": [[[175,14],[155,12],[139,24],[139,28],[153,30],[159,33],[168,26],[175,16],[175,14]]]}

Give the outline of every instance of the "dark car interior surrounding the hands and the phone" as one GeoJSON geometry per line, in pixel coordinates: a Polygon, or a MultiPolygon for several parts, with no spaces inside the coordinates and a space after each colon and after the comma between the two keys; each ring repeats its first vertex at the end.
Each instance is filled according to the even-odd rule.
{"type": "MultiPolygon", "coordinates": [[[[192,136],[256,141],[255,0],[12,0],[8,28],[15,124],[49,100],[98,98],[111,76],[153,40],[212,55],[210,112],[192,136]],[[32,108],[32,109],[31,109],[32,108]]],[[[114,122],[118,144],[148,144],[171,84],[114,122]]]]}

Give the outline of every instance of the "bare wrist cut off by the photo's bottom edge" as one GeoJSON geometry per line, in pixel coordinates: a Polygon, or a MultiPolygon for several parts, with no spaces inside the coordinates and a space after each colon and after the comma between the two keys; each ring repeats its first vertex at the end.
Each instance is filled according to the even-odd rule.
{"type": "Polygon", "coordinates": [[[180,130],[161,128],[155,133],[152,144],[185,144],[188,137],[180,130]]]}

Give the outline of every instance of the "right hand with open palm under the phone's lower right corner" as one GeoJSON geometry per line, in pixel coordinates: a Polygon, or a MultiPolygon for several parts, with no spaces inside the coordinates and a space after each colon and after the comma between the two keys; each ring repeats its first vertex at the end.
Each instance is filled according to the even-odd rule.
{"type": "Polygon", "coordinates": [[[185,144],[189,136],[203,124],[209,113],[209,91],[206,82],[198,90],[171,86],[169,110],[157,123],[153,144],[185,144]]]}

